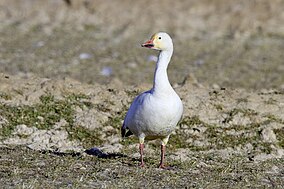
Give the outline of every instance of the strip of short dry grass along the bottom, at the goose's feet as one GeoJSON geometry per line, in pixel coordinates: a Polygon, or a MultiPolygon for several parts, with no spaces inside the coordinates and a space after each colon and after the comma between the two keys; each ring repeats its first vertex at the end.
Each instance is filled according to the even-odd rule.
{"type": "MultiPolygon", "coordinates": [[[[25,147],[0,148],[0,183],[5,188],[281,188],[283,159],[253,163],[241,156],[220,159],[195,153],[160,170],[152,162],[115,156],[34,152],[25,147]],[[14,158],[11,158],[14,157],[14,158]]],[[[153,157],[151,157],[153,158],[153,157]]]]}

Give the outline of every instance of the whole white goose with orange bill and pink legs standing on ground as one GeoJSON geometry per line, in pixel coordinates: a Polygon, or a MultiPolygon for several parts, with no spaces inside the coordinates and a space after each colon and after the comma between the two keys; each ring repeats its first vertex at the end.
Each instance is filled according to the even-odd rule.
{"type": "Polygon", "coordinates": [[[124,119],[121,133],[123,137],[133,133],[139,138],[141,167],[144,166],[144,139],[161,139],[159,167],[165,168],[165,146],[183,113],[182,102],[172,88],[167,75],[167,67],[173,54],[173,42],[167,33],[159,32],[142,44],[142,47],[160,51],[154,84],[151,90],[141,93],[134,99],[124,119]]]}

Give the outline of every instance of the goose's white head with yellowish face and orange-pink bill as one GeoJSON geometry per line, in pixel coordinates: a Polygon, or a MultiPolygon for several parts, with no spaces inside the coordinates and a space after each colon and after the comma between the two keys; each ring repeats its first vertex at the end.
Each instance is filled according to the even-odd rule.
{"type": "Polygon", "coordinates": [[[143,43],[141,46],[159,51],[172,51],[173,41],[169,34],[159,32],[152,35],[151,39],[143,43]]]}

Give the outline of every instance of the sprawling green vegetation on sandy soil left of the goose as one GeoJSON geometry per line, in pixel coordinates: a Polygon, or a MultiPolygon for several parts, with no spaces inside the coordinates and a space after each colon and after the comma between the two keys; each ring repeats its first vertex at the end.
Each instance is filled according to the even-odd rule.
{"type": "MultiPolygon", "coordinates": [[[[75,108],[81,109],[96,108],[98,111],[110,111],[106,102],[94,105],[90,102],[90,97],[85,94],[68,94],[62,99],[56,99],[51,94],[43,95],[39,98],[39,102],[34,105],[8,105],[0,103],[0,113],[7,123],[0,128],[0,134],[4,138],[9,137],[17,125],[24,124],[28,127],[36,127],[37,129],[52,129],[52,127],[64,119],[67,124],[64,129],[68,132],[70,140],[78,140],[85,147],[93,145],[101,145],[103,139],[99,138],[99,131],[89,130],[81,125],[75,124],[75,108]]],[[[104,126],[112,126],[115,128],[110,132],[106,132],[106,137],[118,134],[120,132],[121,122],[125,117],[127,107],[124,106],[121,111],[115,112],[110,116],[104,126]]]]}

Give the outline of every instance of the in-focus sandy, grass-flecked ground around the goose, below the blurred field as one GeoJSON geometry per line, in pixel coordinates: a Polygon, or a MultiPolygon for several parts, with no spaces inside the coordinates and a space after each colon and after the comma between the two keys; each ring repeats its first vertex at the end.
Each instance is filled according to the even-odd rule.
{"type": "MultiPolygon", "coordinates": [[[[0,167],[3,175],[0,182],[6,186],[17,186],[19,182],[30,184],[32,187],[39,187],[39,182],[50,184],[52,180],[57,180],[57,183],[51,184],[57,187],[67,186],[69,182],[74,187],[129,186],[128,178],[122,177],[119,181],[113,179],[108,184],[105,183],[107,182],[105,178],[113,177],[113,174],[121,175],[121,169],[127,169],[124,170],[127,172],[132,172],[133,166],[137,169],[138,141],[135,138],[122,140],[120,127],[134,96],[151,85],[125,86],[117,80],[108,85],[88,85],[72,79],[52,80],[36,76],[22,78],[6,74],[1,74],[0,81],[0,91],[5,91],[1,93],[0,98],[2,132],[0,147],[3,152],[1,157],[4,158],[2,159],[4,164],[2,168],[0,167]],[[68,113],[69,111],[71,114],[68,113]],[[50,117],[54,121],[50,120],[50,117]],[[29,166],[31,165],[29,159],[43,158],[38,152],[27,151],[26,147],[48,154],[44,156],[46,158],[42,160],[44,162],[57,162],[56,174],[45,166],[49,164],[46,162],[47,164],[41,166],[45,171],[35,173],[39,180],[35,181],[28,177],[19,181],[35,171],[29,166]],[[11,156],[7,156],[7,153],[11,156]],[[18,160],[18,163],[12,166],[12,170],[23,167],[20,168],[21,172],[12,174],[12,177],[8,176],[10,174],[7,173],[10,171],[7,168],[11,168],[8,166],[10,164],[7,164],[10,161],[9,157],[22,153],[25,153],[26,159],[18,160]],[[55,157],[52,154],[55,154],[55,157]],[[97,156],[98,159],[91,160],[89,156],[97,156]],[[63,178],[62,174],[69,165],[59,163],[60,158],[71,164],[78,161],[89,165],[93,164],[90,161],[96,164],[101,162],[99,167],[104,167],[105,171],[94,170],[94,167],[85,169],[80,164],[79,167],[82,165],[81,168],[85,171],[74,174],[70,172],[69,176],[63,178]],[[110,165],[112,171],[108,172],[110,165]],[[94,171],[94,177],[86,176],[84,181],[75,179],[80,174],[87,174],[86,171],[94,171]],[[44,177],[47,172],[52,175],[49,179],[44,177]],[[101,177],[101,174],[105,176],[101,177]],[[73,181],[69,181],[73,177],[73,181]],[[11,182],[10,178],[14,181],[11,182]],[[93,180],[98,178],[98,182],[94,184],[93,180]],[[116,182],[120,184],[116,185],[116,182]]],[[[191,170],[197,163],[197,167],[193,168],[197,172],[192,175],[192,184],[197,182],[195,178],[201,177],[204,182],[198,182],[196,186],[199,187],[215,182],[218,183],[217,188],[229,187],[232,183],[239,187],[256,186],[256,183],[258,186],[283,184],[283,166],[281,166],[283,164],[280,163],[284,155],[283,91],[262,89],[248,92],[244,89],[207,88],[192,78],[188,78],[182,85],[176,85],[175,89],[183,100],[185,111],[168,144],[167,162],[174,167],[171,174],[179,174],[180,179],[186,179],[187,170],[191,170]],[[200,172],[201,167],[207,166],[208,158],[211,159],[210,169],[206,170],[206,173],[200,172]],[[261,164],[265,167],[260,166],[261,164]],[[260,166],[263,170],[254,170],[260,174],[258,177],[240,181],[234,180],[236,177],[232,176],[228,178],[228,182],[223,182],[220,181],[221,177],[217,176],[218,174],[216,177],[209,175],[223,169],[221,167],[232,165],[240,167],[241,177],[248,176],[248,171],[242,171],[243,169],[253,171],[253,167],[260,166]],[[271,172],[271,169],[274,171],[271,172]],[[270,181],[266,182],[271,177],[273,184],[270,181]]],[[[145,178],[149,178],[145,183],[151,181],[155,177],[153,175],[163,174],[155,168],[159,161],[158,154],[159,141],[147,142],[145,170],[149,169],[149,173],[145,178]]],[[[141,171],[137,173],[135,183],[145,174],[143,170],[141,171]]],[[[232,169],[232,174],[236,174],[235,171],[238,169],[232,169]]],[[[177,185],[173,180],[177,177],[170,175],[166,177],[172,184],[160,180],[157,186],[189,185],[188,179],[177,185]]],[[[143,187],[144,184],[138,182],[133,186],[143,187]]],[[[190,186],[194,187],[195,184],[190,186]]]]}

